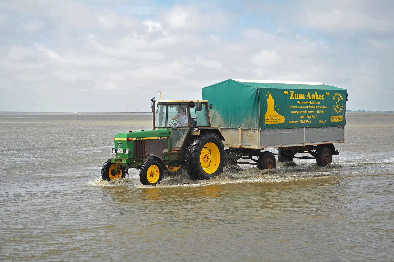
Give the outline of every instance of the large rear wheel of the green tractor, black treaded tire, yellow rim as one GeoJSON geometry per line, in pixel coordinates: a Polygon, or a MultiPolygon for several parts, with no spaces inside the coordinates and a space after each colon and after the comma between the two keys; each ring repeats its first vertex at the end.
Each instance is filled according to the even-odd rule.
{"type": "MultiPolygon", "coordinates": [[[[215,148],[213,149],[216,150],[215,148]]],[[[225,160],[224,145],[221,139],[216,134],[203,133],[198,138],[192,140],[186,148],[184,167],[186,173],[193,180],[209,179],[223,173],[225,160]],[[207,151],[209,147],[214,147],[212,144],[217,147],[218,153],[207,151]],[[201,154],[201,152],[203,152],[203,154],[201,154]],[[204,152],[208,152],[209,157],[212,157],[209,160],[209,167],[205,169],[201,164],[201,159],[204,159],[204,152]],[[210,152],[212,152],[212,154],[210,152]],[[217,157],[219,157],[219,159],[217,159],[217,157]],[[208,173],[205,170],[208,170],[208,173]]],[[[203,165],[207,164],[203,163],[203,165]]]]}

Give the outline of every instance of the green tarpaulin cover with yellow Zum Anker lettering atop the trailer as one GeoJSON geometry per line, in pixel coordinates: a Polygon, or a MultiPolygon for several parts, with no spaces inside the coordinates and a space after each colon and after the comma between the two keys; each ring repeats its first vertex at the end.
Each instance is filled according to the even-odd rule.
{"type": "Polygon", "coordinates": [[[204,87],[212,126],[272,129],[346,124],[347,90],[322,83],[225,80],[204,87]]]}

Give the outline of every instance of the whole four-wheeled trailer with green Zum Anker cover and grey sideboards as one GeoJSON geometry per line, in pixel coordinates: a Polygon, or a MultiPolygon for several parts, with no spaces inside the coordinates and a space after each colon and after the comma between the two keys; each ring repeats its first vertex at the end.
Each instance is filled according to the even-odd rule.
{"type": "Polygon", "coordinates": [[[214,104],[211,125],[229,148],[227,164],[249,159],[243,164],[275,168],[275,156],[264,149],[277,148],[279,162],[311,158],[325,166],[339,154],[333,144],[345,143],[346,89],[320,82],[229,79],[202,92],[214,104]]]}

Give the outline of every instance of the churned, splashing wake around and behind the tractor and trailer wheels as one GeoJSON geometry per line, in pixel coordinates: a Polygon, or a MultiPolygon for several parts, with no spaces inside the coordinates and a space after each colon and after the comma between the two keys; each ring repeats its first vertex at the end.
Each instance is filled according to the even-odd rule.
{"type": "Polygon", "coordinates": [[[382,163],[362,163],[362,164],[329,164],[320,167],[316,164],[295,162],[278,162],[276,169],[260,170],[257,167],[251,167],[245,164],[227,165],[223,173],[209,180],[192,180],[182,171],[177,175],[164,177],[162,182],[156,186],[144,186],[139,181],[138,170],[130,169],[130,175],[125,178],[119,178],[111,181],[96,178],[89,180],[89,186],[134,186],[134,188],[173,188],[184,186],[205,186],[209,184],[227,184],[227,183],[272,183],[288,182],[295,180],[314,179],[330,176],[354,176],[380,174],[394,174],[394,164],[382,163]],[[367,167],[365,166],[367,165],[367,167]]]}

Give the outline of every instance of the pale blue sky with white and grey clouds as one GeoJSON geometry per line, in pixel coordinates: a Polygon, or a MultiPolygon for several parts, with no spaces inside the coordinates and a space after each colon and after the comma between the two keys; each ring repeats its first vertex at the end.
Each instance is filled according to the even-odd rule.
{"type": "Polygon", "coordinates": [[[232,79],[394,110],[394,1],[0,0],[0,111],[151,111],[232,79]]]}

